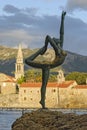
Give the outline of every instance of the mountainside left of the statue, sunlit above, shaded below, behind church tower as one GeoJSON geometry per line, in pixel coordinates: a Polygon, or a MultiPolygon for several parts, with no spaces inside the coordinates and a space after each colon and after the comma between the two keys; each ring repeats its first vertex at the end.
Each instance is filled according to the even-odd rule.
{"type": "MultiPolygon", "coordinates": [[[[14,75],[15,63],[18,49],[0,46],[0,72],[8,75],[14,75]]],[[[30,49],[23,49],[24,58],[35,52],[30,49]]],[[[25,70],[29,69],[25,65],[25,70]]]]}

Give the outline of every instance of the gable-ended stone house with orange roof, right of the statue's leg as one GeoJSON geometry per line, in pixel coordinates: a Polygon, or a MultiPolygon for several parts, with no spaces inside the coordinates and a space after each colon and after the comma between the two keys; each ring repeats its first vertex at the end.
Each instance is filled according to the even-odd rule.
{"type": "Polygon", "coordinates": [[[74,96],[75,90],[74,87],[77,85],[76,81],[64,81],[62,83],[58,83],[58,89],[59,89],[59,106],[60,107],[69,107],[71,102],[71,97],[74,96]]]}

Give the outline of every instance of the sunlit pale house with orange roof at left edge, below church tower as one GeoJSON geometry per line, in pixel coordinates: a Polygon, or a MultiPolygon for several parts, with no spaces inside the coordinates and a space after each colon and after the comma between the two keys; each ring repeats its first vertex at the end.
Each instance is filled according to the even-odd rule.
{"type": "Polygon", "coordinates": [[[0,94],[16,93],[16,86],[14,77],[0,73],[0,94]]]}

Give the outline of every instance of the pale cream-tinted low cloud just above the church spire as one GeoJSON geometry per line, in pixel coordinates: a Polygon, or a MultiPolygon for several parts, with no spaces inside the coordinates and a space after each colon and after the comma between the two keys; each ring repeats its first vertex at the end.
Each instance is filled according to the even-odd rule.
{"type": "Polygon", "coordinates": [[[32,43],[35,43],[38,39],[40,39],[38,35],[28,34],[27,31],[22,29],[0,32],[0,43],[2,42],[10,47],[17,46],[19,43],[23,43],[24,46],[30,47],[32,43]]]}

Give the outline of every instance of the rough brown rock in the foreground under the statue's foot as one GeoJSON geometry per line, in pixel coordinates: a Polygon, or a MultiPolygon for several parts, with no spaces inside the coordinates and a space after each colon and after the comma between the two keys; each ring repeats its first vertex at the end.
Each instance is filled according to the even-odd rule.
{"type": "Polygon", "coordinates": [[[87,114],[38,109],[23,114],[12,124],[12,130],[87,130],[87,114]]]}

